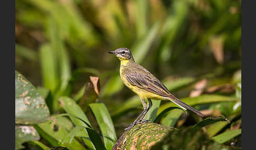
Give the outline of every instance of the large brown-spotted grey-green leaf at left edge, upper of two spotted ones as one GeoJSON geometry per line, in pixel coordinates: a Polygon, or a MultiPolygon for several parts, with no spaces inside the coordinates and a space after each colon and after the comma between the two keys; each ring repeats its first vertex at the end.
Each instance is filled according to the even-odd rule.
{"type": "Polygon", "coordinates": [[[35,124],[48,120],[50,112],[42,95],[15,71],[15,123],[35,124]]]}

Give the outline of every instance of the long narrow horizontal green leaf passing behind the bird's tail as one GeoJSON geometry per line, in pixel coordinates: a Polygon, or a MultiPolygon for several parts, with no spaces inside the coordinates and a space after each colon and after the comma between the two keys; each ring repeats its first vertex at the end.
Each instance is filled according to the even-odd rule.
{"type": "MultiPolygon", "coordinates": [[[[216,102],[238,101],[239,99],[233,98],[233,97],[222,96],[222,95],[204,94],[204,95],[200,95],[199,97],[194,97],[194,98],[188,97],[188,98],[183,98],[180,100],[188,105],[193,106],[193,105],[216,103],[216,102]]],[[[175,104],[174,103],[166,103],[166,104],[160,106],[157,114],[160,114],[164,109],[169,108],[171,106],[175,106],[175,104]]]]}

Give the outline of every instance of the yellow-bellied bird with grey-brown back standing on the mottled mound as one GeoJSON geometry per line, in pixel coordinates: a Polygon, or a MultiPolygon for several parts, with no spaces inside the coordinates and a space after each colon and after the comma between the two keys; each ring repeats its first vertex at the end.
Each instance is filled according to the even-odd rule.
{"type": "Polygon", "coordinates": [[[117,58],[119,58],[121,63],[120,77],[123,80],[123,83],[127,88],[139,95],[143,105],[143,111],[139,116],[136,117],[129,127],[125,128],[125,131],[130,130],[135,124],[148,121],[143,120],[143,117],[152,106],[151,99],[171,101],[180,106],[183,110],[188,109],[199,116],[204,117],[201,112],[176,98],[159,79],[153,76],[152,73],[143,68],[141,65],[136,63],[130,49],[122,47],[114,51],[109,51],[109,53],[114,54],[117,58]],[[148,107],[146,106],[145,99],[147,99],[149,102],[148,107]]]}

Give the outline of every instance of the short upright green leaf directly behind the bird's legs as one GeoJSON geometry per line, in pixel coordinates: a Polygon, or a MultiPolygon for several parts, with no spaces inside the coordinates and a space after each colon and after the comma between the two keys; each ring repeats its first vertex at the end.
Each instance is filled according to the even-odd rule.
{"type": "MultiPolygon", "coordinates": [[[[144,116],[144,120],[151,120],[154,121],[156,118],[157,110],[159,109],[161,101],[160,100],[152,100],[152,107],[150,110],[146,113],[144,116]]],[[[147,106],[149,106],[149,103],[147,102],[147,106]]]]}

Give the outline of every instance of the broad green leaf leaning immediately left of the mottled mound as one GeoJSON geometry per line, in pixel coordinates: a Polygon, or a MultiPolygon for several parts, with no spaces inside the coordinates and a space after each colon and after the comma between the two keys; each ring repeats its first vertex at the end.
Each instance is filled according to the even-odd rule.
{"type": "Polygon", "coordinates": [[[117,141],[117,137],[109,111],[107,111],[107,108],[103,103],[91,103],[89,106],[101,128],[106,149],[112,149],[117,141]]]}

